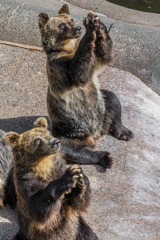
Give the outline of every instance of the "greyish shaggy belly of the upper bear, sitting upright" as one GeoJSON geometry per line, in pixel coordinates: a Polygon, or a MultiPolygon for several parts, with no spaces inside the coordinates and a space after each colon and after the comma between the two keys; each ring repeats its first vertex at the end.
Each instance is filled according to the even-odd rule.
{"type": "Polygon", "coordinates": [[[97,91],[92,82],[89,84],[83,88],[67,91],[60,96],[59,101],[48,94],[50,95],[50,98],[47,98],[48,113],[52,133],[65,137],[92,135],[96,138],[100,135],[105,103],[100,90],[97,91]]]}

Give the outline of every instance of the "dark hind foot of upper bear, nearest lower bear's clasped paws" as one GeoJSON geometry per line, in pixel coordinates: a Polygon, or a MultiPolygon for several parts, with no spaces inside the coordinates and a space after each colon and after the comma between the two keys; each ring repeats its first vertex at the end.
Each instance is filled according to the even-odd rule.
{"type": "Polygon", "coordinates": [[[109,152],[96,151],[96,154],[98,155],[98,158],[99,158],[99,162],[98,162],[99,165],[101,165],[105,169],[112,167],[113,159],[109,152]]]}

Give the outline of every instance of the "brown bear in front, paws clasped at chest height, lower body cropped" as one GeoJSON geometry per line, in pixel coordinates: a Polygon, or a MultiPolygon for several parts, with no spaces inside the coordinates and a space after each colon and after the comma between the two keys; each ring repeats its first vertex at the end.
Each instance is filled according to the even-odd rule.
{"type": "Polygon", "coordinates": [[[14,240],[97,240],[81,217],[91,198],[88,178],[78,165],[66,168],[60,140],[45,118],[19,135],[6,134],[12,146],[19,232],[14,240]]]}

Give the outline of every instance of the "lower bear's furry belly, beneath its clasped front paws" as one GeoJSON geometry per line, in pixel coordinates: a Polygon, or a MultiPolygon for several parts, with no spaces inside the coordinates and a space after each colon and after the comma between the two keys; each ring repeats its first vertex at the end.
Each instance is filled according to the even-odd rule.
{"type": "Polygon", "coordinates": [[[53,211],[44,223],[36,222],[35,219],[29,219],[23,216],[20,232],[22,232],[27,239],[75,240],[78,225],[79,216],[74,210],[71,209],[65,218],[62,218],[60,213],[55,214],[53,211]]]}

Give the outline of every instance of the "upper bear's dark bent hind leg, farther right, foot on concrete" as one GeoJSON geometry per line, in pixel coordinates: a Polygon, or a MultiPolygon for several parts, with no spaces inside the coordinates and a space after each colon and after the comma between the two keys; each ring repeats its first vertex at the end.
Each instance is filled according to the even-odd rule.
{"type": "Polygon", "coordinates": [[[105,100],[106,113],[104,118],[103,133],[109,132],[120,140],[128,141],[133,138],[133,133],[121,122],[121,104],[118,97],[111,91],[101,89],[105,100]],[[108,124],[107,124],[108,123],[108,124]]]}

